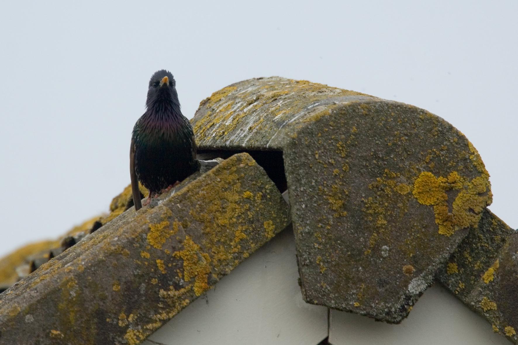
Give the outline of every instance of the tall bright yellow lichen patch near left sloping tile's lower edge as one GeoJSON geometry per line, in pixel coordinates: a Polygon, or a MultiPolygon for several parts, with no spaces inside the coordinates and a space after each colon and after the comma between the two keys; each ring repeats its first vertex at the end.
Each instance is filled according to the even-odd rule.
{"type": "Polygon", "coordinates": [[[183,250],[174,252],[172,255],[183,260],[183,279],[186,282],[195,279],[194,293],[196,296],[209,290],[208,276],[210,273],[209,254],[200,252],[200,247],[190,236],[185,236],[183,250]]]}

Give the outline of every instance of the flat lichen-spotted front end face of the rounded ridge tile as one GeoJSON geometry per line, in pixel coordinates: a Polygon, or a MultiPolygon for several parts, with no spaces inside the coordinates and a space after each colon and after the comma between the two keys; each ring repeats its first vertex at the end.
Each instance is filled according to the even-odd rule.
{"type": "Polygon", "coordinates": [[[478,154],[391,102],[336,106],[296,134],[284,162],[306,300],[400,322],[491,203],[478,154]]]}

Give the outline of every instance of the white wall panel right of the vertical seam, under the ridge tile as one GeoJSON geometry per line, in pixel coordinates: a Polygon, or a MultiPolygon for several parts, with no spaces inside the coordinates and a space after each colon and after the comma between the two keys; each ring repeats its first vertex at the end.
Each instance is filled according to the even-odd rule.
{"type": "Polygon", "coordinates": [[[491,325],[444,287],[430,287],[399,325],[343,311],[330,313],[333,345],[509,345],[491,325]]]}

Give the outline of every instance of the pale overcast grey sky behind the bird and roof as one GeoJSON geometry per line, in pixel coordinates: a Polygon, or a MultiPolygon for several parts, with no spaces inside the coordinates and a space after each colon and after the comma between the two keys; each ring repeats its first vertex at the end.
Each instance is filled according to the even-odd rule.
{"type": "Polygon", "coordinates": [[[0,14],[0,255],[107,211],[130,183],[147,82],[186,117],[252,77],[307,79],[427,109],[491,174],[518,227],[518,2],[9,2],[0,14]]]}

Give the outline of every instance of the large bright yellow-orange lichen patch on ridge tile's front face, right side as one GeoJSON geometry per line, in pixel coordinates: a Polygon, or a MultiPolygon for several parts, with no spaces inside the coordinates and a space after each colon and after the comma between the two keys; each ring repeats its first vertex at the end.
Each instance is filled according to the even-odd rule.
{"type": "Polygon", "coordinates": [[[413,196],[422,205],[433,205],[439,234],[451,236],[458,229],[476,227],[482,210],[492,201],[488,175],[473,178],[461,177],[456,171],[447,177],[435,177],[431,172],[421,172],[414,182],[413,196]],[[449,210],[447,191],[458,190],[449,210]]]}

